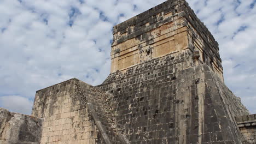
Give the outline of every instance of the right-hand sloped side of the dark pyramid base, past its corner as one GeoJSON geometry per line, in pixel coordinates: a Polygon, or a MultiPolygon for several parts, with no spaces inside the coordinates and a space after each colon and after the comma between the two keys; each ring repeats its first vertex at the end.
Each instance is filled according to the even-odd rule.
{"type": "Polygon", "coordinates": [[[202,88],[199,88],[202,89],[202,94],[199,94],[199,122],[202,123],[204,134],[202,140],[244,143],[235,117],[249,115],[249,112],[242,105],[240,98],[237,98],[207,65],[198,66],[195,70],[197,75],[204,78],[203,82],[199,80],[197,84],[202,85],[202,88]]]}

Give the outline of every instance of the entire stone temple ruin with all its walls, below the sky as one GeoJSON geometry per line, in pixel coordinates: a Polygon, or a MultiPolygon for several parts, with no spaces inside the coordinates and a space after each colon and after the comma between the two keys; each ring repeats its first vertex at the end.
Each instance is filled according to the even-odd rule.
{"type": "Polygon", "coordinates": [[[36,92],[32,116],[0,109],[0,143],[256,143],[256,115],[225,86],[219,47],[184,0],[113,28],[107,79],[36,92]]]}

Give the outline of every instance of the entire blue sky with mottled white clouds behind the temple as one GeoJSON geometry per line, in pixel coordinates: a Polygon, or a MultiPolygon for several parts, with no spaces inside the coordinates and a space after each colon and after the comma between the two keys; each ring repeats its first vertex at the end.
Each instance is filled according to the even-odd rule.
{"type": "MultiPolygon", "coordinates": [[[[0,107],[30,114],[38,89],[110,70],[112,27],[165,0],[0,0],[0,107]]],[[[256,0],[188,0],[219,43],[225,83],[256,113],[256,0]]]]}

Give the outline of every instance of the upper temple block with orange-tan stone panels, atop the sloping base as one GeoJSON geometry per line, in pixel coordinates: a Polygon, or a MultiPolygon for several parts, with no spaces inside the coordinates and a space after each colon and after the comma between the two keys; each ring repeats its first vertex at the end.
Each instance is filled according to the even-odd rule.
{"type": "Polygon", "coordinates": [[[190,49],[223,80],[218,43],[183,0],[166,1],[113,29],[111,73],[190,49]]]}

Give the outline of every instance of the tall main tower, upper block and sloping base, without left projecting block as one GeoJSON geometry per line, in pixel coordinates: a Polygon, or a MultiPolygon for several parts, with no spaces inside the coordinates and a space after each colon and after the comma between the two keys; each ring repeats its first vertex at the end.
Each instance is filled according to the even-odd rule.
{"type": "Polygon", "coordinates": [[[223,83],[218,43],[182,0],[114,27],[111,74],[118,127],[131,143],[243,143],[248,111],[223,83]]]}

